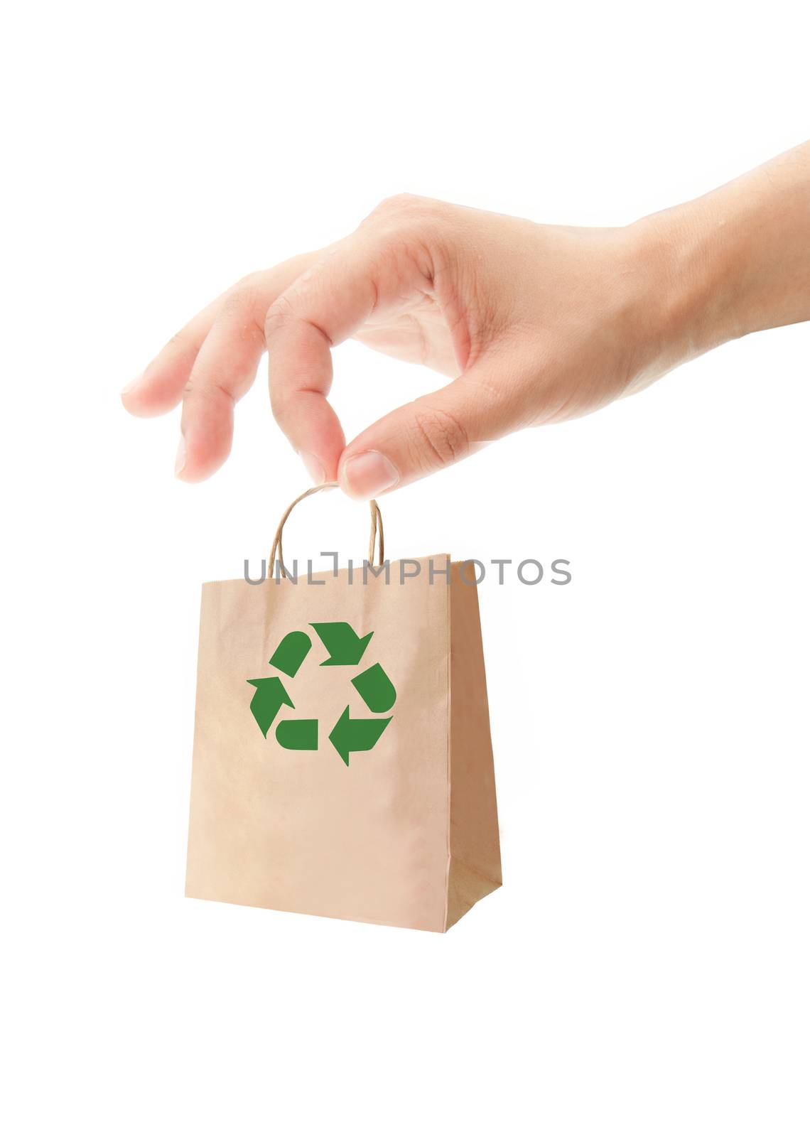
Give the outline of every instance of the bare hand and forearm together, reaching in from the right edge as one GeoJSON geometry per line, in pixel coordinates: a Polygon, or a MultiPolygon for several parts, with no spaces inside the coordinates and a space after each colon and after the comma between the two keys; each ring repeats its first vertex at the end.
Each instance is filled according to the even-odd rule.
{"type": "Polygon", "coordinates": [[[141,416],[182,400],[176,474],[201,481],[228,458],[266,350],[273,414],[313,480],[367,498],[805,319],[810,143],[621,229],[390,198],[344,240],[239,281],[122,398],[141,416]],[[449,382],[347,446],[328,395],[332,348],[349,338],[449,382]]]}

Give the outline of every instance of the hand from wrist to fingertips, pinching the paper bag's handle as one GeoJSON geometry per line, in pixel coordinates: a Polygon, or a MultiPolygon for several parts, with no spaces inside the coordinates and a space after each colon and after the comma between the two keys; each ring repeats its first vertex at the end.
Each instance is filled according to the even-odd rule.
{"type": "Polygon", "coordinates": [[[235,284],[174,337],[124,402],[152,415],[182,398],[177,472],[199,481],[228,457],[233,406],[266,349],[273,413],[312,478],[381,493],[637,383],[655,356],[654,289],[637,244],[629,230],[556,229],[394,198],[346,240],[235,284]],[[458,377],[346,447],[327,395],[331,349],[349,337],[458,377]]]}

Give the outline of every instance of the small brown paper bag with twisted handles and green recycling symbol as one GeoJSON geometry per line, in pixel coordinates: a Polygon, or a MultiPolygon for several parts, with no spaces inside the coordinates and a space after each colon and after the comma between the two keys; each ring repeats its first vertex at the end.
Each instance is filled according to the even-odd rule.
{"type": "Polygon", "coordinates": [[[296,583],[290,509],[262,584],[202,586],[185,895],[446,931],[501,885],[477,588],[446,556],[296,583]]]}

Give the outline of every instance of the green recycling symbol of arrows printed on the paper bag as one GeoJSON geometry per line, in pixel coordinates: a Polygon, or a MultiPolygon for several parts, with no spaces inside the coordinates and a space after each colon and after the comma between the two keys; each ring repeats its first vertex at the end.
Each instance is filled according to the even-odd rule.
{"type": "MultiPolygon", "coordinates": [[[[315,629],[315,634],[329,652],[329,658],[323,661],[322,667],[356,666],[374,634],[369,632],[367,636],[359,637],[350,624],[341,621],[309,626],[315,629]]],[[[288,632],[271,656],[270,665],[295,679],[311,648],[312,640],[307,632],[288,632]]],[[[266,738],[282,706],[295,711],[295,704],[278,675],[248,679],[248,683],[256,688],[250,700],[250,712],[266,738]]],[[[352,686],[374,714],[390,711],[397,698],[394,683],[379,663],[355,675],[352,686]]],[[[373,749],[391,717],[353,719],[347,706],[332,728],[329,741],[348,765],[350,754],[373,749]]],[[[282,719],[275,728],[275,740],[286,750],[316,750],[317,732],[317,719],[282,719]]]]}

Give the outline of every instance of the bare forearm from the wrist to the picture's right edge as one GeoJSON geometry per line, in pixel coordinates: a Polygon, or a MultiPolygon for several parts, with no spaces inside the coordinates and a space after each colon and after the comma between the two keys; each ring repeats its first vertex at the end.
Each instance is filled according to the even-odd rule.
{"type": "Polygon", "coordinates": [[[664,366],[810,319],[810,143],[638,230],[661,251],[664,366]]]}

